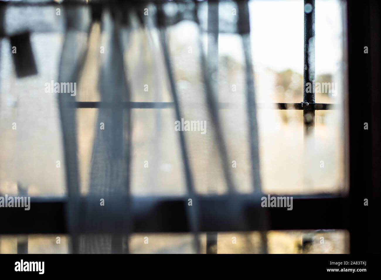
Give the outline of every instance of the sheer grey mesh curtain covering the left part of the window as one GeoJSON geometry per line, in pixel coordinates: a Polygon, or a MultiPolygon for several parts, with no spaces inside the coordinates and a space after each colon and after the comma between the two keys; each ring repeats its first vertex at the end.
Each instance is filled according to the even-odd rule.
{"type": "Polygon", "coordinates": [[[195,252],[199,195],[228,195],[226,207],[245,223],[235,195],[261,194],[247,1],[2,2],[0,17],[0,123],[18,125],[17,134],[7,128],[2,135],[9,150],[0,179],[17,182],[18,192],[24,186],[33,194],[35,186],[37,195],[67,195],[72,253],[128,253],[134,196],[183,197],[195,252]],[[191,46],[176,48],[184,39],[176,28],[196,34],[191,46]],[[223,33],[242,42],[242,79],[234,83],[240,90],[230,95],[220,94],[232,87],[221,69],[219,76],[217,35],[223,33]],[[30,41],[32,52],[20,48],[21,58],[11,61],[15,38],[20,46],[30,41]],[[76,83],[77,94],[45,93],[51,80],[76,83]],[[75,101],[99,105],[81,109],[75,101]],[[81,110],[93,110],[94,122],[80,126],[86,124],[81,110]],[[205,121],[206,133],[175,131],[182,119],[205,121]],[[87,165],[82,135],[91,135],[87,165]],[[64,178],[39,186],[34,173],[48,172],[58,150],[64,178]],[[63,193],[49,192],[57,181],[63,193]]]}

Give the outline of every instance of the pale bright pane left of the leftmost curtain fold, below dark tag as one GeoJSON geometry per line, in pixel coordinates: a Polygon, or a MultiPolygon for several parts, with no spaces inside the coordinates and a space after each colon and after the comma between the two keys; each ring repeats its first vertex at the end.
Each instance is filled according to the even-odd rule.
{"type": "Polygon", "coordinates": [[[10,40],[1,40],[0,192],[61,196],[65,193],[61,121],[57,93],[46,93],[45,83],[58,76],[62,36],[33,33],[30,41],[38,74],[16,77],[10,40]]]}

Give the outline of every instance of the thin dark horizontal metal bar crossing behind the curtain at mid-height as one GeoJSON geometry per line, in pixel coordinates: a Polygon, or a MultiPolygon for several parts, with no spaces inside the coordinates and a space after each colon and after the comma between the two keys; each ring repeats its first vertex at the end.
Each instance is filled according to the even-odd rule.
{"type": "MultiPolygon", "coordinates": [[[[240,109],[242,104],[232,103],[232,102],[219,102],[219,109],[240,109]]],[[[73,102],[71,106],[76,108],[115,108],[115,107],[125,107],[131,109],[167,109],[174,108],[173,102],[121,102],[118,104],[112,102],[73,102]]],[[[189,104],[192,106],[192,104],[189,104]]],[[[194,106],[199,106],[195,103],[194,106]]],[[[278,110],[303,110],[303,108],[310,110],[335,110],[338,109],[339,104],[330,103],[258,103],[256,104],[258,109],[278,109],[278,110]]]]}

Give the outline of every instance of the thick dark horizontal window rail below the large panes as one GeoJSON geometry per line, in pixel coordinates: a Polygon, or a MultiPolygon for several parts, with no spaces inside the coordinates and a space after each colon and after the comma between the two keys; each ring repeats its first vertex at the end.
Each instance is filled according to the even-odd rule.
{"type": "MultiPolygon", "coordinates": [[[[89,218],[83,215],[88,209],[88,203],[96,201],[99,203],[98,198],[95,200],[80,198],[81,213],[78,215],[82,219],[81,223],[84,224],[86,218],[89,218]]],[[[199,205],[188,206],[188,197],[133,197],[131,205],[133,222],[130,230],[135,233],[191,232],[186,207],[199,208],[201,232],[346,229],[348,226],[346,198],[331,195],[293,196],[291,211],[287,208],[261,207],[261,197],[252,195],[238,195],[234,199],[226,195],[199,196],[197,201],[199,205]]],[[[99,207],[112,205],[107,202],[109,200],[105,198],[105,206],[99,207]]],[[[31,198],[29,211],[25,211],[24,208],[0,208],[0,234],[69,234],[65,208],[65,198],[34,197],[31,198]]],[[[124,213],[120,212],[113,212],[112,219],[106,217],[98,221],[97,218],[97,223],[93,223],[96,225],[103,223],[105,230],[87,227],[80,229],[80,232],[107,233],[108,228],[113,232],[123,231],[125,229],[115,228],[115,221],[121,221],[120,224],[123,224],[126,218],[124,213]],[[107,227],[107,222],[113,223],[113,227],[107,227]]],[[[92,215],[96,216],[94,213],[92,215]]]]}

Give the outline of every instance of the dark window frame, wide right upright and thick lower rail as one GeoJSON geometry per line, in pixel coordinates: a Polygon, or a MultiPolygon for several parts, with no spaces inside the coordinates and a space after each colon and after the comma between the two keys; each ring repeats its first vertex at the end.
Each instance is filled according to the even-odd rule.
{"type": "MultiPolygon", "coordinates": [[[[307,1],[314,2],[314,1],[307,1]]],[[[229,197],[198,196],[200,207],[201,232],[250,231],[261,230],[262,225],[257,217],[266,215],[267,230],[308,230],[308,229],[347,229],[350,233],[351,253],[380,253],[379,203],[380,176],[379,148],[381,142],[379,132],[369,133],[362,130],[363,122],[371,125],[381,124],[379,112],[379,85],[375,78],[381,76],[379,53],[371,53],[364,57],[363,46],[370,50],[379,50],[380,5],[377,0],[363,2],[347,1],[347,34],[348,34],[348,99],[344,106],[348,108],[349,117],[349,195],[317,194],[293,195],[293,210],[282,211],[279,208],[262,208],[260,201],[238,195],[243,214],[247,221],[244,226],[236,224],[234,217],[224,211],[229,197]],[[375,19],[378,19],[375,21],[375,19]],[[373,21],[372,21],[373,20],[373,21]],[[374,27],[374,24],[378,27],[374,27]],[[368,28],[368,29],[367,29],[368,28]],[[367,29],[368,32],[363,30],[367,29]],[[378,37],[377,37],[377,36],[378,37]],[[360,73],[359,69],[362,70],[360,73]],[[358,93],[363,94],[359,98],[358,93]],[[360,148],[359,148],[360,146],[360,148]],[[371,149],[366,149],[370,147],[371,149]],[[373,154],[376,152],[376,154],[373,154]],[[363,199],[373,198],[370,206],[363,206],[363,199]],[[218,211],[216,211],[218,209],[218,211]],[[219,221],[219,222],[217,222],[219,221]]],[[[305,19],[306,20],[306,19],[305,19]]],[[[305,25],[306,26],[306,25],[305,25]]],[[[308,29],[308,22],[307,22],[308,29]]],[[[304,81],[306,82],[306,81],[304,81]]],[[[304,102],[309,102],[304,96],[304,102]]],[[[309,102],[276,103],[278,109],[296,109],[307,112],[334,109],[335,104],[309,102]]],[[[75,102],[77,108],[97,108],[99,102],[75,102]]],[[[266,104],[258,104],[259,109],[266,104]]],[[[173,102],[126,102],[128,108],[173,108],[173,102]]],[[[230,103],[219,103],[220,108],[234,106],[230,103]]],[[[304,128],[311,126],[304,122],[304,128]]],[[[133,232],[191,232],[187,222],[187,214],[183,198],[146,197],[131,198],[131,228],[133,232]],[[147,213],[143,205],[150,205],[147,213]]],[[[70,234],[67,221],[67,198],[32,197],[29,211],[22,208],[3,208],[0,211],[2,224],[1,234],[70,234]],[[22,223],[20,222],[22,221],[22,223]]]]}

